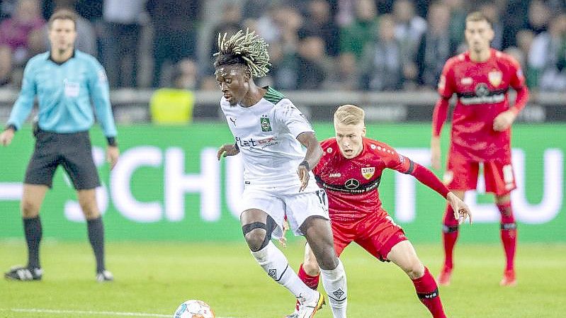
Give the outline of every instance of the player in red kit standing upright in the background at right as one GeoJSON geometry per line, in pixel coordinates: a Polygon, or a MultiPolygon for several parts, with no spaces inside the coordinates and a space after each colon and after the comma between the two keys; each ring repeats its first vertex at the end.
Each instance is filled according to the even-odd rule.
{"type": "MultiPolygon", "coordinates": [[[[467,190],[476,188],[477,174],[483,166],[486,191],[495,195],[501,212],[501,238],[506,268],[500,285],[515,285],[514,256],[516,223],[511,209],[510,192],[516,188],[511,166],[511,124],[528,100],[528,89],[516,60],[489,47],[494,32],[480,12],[468,14],[465,40],[469,50],[448,59],[440,81],[440,98],[432,118],[432,166],[440,168],[440,133],[453,94],[458,101],[453,111],[451,145],[444,182],[463,199],[467,190]],[[517,95],[509,106],[508,91],[517,95]]],[[[448,285],[453,269],[453,248],[458,238],[458,221],[450,205],[443,218],[444,266],[438,283],[448,285]]]]}

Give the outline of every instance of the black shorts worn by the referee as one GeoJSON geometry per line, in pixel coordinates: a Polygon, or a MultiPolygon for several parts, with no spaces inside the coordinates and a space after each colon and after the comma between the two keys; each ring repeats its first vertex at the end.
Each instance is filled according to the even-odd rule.
{"type": "Polygon", "coordinates": [[[38,131],[25,183],[51,188],[59,165],[67,171],[75,189],[89,190],[100,186],[88,131],[68,134],[38,131]]]}

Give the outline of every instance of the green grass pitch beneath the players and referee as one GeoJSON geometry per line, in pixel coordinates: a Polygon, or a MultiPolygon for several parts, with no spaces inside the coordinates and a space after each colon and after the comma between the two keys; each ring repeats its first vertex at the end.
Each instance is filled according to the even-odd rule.
{"type": "MultiPolygon", "coordinates": [[[[302,243],[284,249],[293,268],[302,243]]],[[[441,266],[440,244],[417,244],[434,275],[441,266]]],[[[268,278],[245,243],[111,242],[108,269],[115,282],[94,280],[94,256],[86,242],[42,246],[43,281],[0,280],[0,317],[172,317],[188,299],[208,302],[217,317],[281,318],[295,300],[268,278]]],[[[23,263],[23,241],[0,241],[0,269],[23,263]]],[[[412,283],[391,263],[373,259],[358,246],[341,258],[348,275],[349,318],[430,317],[412,283]]],[[[451,286],[440,293],[448,317],[566,317],[566,244],[519,244],[519,285],[499,287],[501,246],[460,244],[451,286]]],[[[332,317],[324,307],[317,318],[332,317]]]]}

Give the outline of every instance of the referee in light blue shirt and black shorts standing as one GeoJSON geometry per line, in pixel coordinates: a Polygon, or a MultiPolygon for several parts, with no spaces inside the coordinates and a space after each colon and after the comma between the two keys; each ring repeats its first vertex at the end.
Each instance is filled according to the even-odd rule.
{"type": "MultiPolygon", "coordinates": [[[[39,217],[47,189],[57,166],[63,166],[86,217],[89,240],[96,258],[96,280],[113,280],[104,265],[104,227],[96,205],[98,171],[91,152],[89,128],[94,112],[108,140],[106,157],[113,167],[118,161],[116,127],[110,104],[106,72],[96,58],[74,49],[77,16],[60,10],[49,20],[50,52],[31,58],[23,72],[20,96],[14,104],[0,143],[7,146],[30,115],[35,97],[39,114],[34,129],[35,149],[23,183],[21,212],[28,243],[28,265],[4,274],[10,280],[40,280],[39,260],[42,227],[39,217]]],[[[116,57],[119,58],[119,57],[116,57]]]]}

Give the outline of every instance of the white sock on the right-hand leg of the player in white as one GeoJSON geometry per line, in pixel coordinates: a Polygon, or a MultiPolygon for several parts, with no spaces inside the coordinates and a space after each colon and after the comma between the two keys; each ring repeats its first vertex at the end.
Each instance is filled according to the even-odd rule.
{"type": "Polygon", "coordinates": [[[342,261],[338,259],[338,266],[334,269],[320,269],[322,285],[328,294],[330,307],[334,318],[346,318],[346,273],[342,261]]]}

